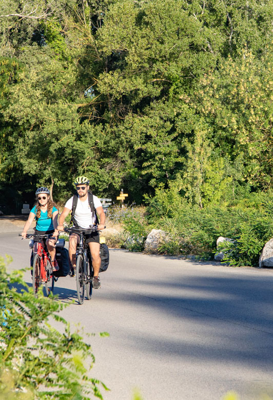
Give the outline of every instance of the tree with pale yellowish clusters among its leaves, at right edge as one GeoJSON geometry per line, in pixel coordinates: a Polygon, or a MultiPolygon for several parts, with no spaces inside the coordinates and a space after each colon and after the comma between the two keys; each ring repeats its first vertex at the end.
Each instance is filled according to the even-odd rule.
{"type": "Polygon", "coordinates": [[[213,130],[218,154],[232,163],[243,160],[238,180],[256,189],[272,181],[272,63],[271,47],[260,59],[243,50],[205,76],[198,93],[197,108],[213,130]]]}

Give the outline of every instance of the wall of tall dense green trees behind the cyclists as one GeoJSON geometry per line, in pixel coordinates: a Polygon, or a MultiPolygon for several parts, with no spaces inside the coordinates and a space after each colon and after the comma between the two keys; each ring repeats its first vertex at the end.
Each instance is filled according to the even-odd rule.
{"type": "Polygon", "coordinates": [[[270,0],[12,0],[0,15],[0,176],[22,195],[64,202],[77,174],[138,204],[171,185],[200,208],[271,187],[270,0]]]}

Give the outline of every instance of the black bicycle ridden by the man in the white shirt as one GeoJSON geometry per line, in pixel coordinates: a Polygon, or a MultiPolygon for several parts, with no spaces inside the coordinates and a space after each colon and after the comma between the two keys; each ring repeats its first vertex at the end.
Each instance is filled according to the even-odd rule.
{"type": "Polygon", "coordinates": [[[76,288],[77,288],[77,298],[79,304],[83,304],[86,297],[88,300],[92,296],[92,277],[93,277],[93,267],[92,259],[89,250],[89,246],[85,243],[85,233],[97,232],[97,226],[90,228],[65,228],[64,231],[68,233],[76,233],[80,236],[79,243],[76,249],[76,288]]]}

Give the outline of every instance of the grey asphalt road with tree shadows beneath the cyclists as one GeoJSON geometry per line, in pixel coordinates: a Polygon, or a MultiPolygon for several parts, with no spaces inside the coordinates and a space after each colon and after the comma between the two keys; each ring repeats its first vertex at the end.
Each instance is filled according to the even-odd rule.
{"type": "MultiPolygon", "coordinates": [[[[9,269],[28,266],[28,241],[0,234],[9,269]]],[[[30,272],[26,281],[31,284],[30,272]]],[[[175,257],[110,251],[102,288],[62,315],[86,332],[104,400],[273,398],[273,269],[231,268],[175,257]],[[266,397],[268,398],[268,397],[266,397]]],[[[75,279],[59,278],[57,301],[76,300],[75,279]]]]}

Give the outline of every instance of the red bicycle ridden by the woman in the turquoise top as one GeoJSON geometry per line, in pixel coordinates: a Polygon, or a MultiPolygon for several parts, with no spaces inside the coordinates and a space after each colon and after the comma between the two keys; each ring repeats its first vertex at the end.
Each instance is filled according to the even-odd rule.
{"type": "MultiPolygon", "coordinates": [[[[19,236],[22,236],[19,233],[19,236]]],[[[55,277],[53,275],[53,267],[51,257],[47,250],[42,246],[42,240],[52,237],[52,234],[37,235],[27,233],[26,238],[37,237],[37,252],[33,258],[33,269],[32,269],[32,287],[34,296],[37,297],[38,289],[45,284],[46,295],[49,296],[50,292],[53,293],[55,277]]]]}

